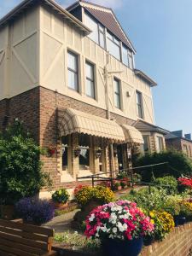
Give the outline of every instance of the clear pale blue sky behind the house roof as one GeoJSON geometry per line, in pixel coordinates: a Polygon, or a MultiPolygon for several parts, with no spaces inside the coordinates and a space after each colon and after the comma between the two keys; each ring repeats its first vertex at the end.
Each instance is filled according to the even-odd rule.
{"type": "MultiPolygon", "coordinates": [[[[73,0],[56,0],[64,7],[73,0]]],[[[192,132],[192,1],[90,0],[113,8],[135,49],[136,67],[157,81],[155,123],[192,132]]],[[[20,0],[0,0],[0,17],[20,0]]]]}

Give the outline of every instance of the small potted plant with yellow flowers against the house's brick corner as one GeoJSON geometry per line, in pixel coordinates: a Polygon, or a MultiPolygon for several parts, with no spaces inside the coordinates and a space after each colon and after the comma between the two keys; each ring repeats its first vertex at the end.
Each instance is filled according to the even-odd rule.
{"type": "Polygon", "coordinates": [[[67,201],[70,195],[67,192],[67,189],[56,190],[52,195],[52,201],[55,204],[55,208],[64,208],[67,207],[67,201]]]}

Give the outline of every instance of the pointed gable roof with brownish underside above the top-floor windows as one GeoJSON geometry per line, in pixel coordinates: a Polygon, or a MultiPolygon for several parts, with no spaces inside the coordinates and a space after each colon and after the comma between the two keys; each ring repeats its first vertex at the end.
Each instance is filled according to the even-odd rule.
{"type": "Polygon", "coordinates": [[[114,15],[113,9],[81,0],[73,3],[67,8],[67,10],[70,12],[73,9],[76,9],[79,5],[88,11],[90,15],[94,16],[96,20],[101,22],[102,25],[108,29],[108,31],[112,32],[114,36],[119,38],[119,40],[123,42],[123,44],[125,44],[129,49],[131,49],[131,51],[136,53],[136,49],[134,49],[130,39],[127,37],[125,31],[120,25],[119,20],[117,19],[116,15],[114,15]]]}

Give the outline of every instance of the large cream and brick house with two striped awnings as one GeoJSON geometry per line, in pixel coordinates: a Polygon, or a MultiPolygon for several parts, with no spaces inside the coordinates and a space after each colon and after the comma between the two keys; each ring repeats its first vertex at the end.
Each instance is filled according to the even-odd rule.
{"type": "MultiPolygon", "coordinates": [[[[18,118],[50,149],[42,160],[54,189],[127,168],[131,147],[151,132],[137,119],[154,125],[156,83],[135,68],[112,9],[79,1],[67,10],[26,0],[0,20],[0,128],[18,118]]],[[[152,137],[164,145],[163,135],[152,137]]]]}

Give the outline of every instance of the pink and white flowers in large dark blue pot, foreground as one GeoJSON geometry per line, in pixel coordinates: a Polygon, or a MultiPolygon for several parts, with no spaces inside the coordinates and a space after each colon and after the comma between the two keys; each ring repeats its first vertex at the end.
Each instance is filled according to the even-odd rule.
{"type": "Polygon", "coordinates": [[[86,218],[85,236],[102,241],[104,255],[137,256],[143,236],[153,234],[154,224],[131,201],[96,207],[86,218]]]}

